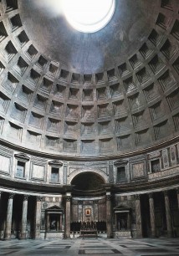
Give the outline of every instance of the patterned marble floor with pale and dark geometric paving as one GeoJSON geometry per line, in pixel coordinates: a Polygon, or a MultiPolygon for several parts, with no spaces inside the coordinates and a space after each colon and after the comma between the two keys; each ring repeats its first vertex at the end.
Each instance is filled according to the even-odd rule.
{"type": "Polygon", "coordinates": [[[0,256],[179,256],[179,238],[0,241],[0,256]]]}

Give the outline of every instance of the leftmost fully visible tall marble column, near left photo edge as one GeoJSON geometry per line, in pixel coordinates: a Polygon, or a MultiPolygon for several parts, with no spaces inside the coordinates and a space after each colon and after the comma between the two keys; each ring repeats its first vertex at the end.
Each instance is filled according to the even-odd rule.
{"type": "Polygon", "coordinates": [[[7,222],[5,228],[4,239],[11,239],[11,226],[12,226],[12,217],[13,217],[13,196],[14,194],[9,194],[8,196],[8,210],[7,210],[7,222]]]}

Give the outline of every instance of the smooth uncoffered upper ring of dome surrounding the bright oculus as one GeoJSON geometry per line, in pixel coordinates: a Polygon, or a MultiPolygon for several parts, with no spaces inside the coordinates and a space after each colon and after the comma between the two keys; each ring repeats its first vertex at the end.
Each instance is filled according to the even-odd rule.
{"type": "Polygon", "coordinates": [[[115,14],[105,28],[97,33],[79,33],[45,2],[18,2],[28,37],[46,57],[82,74],[112,69],[139,49],[151,33],[160,7],[156,0],[117,0],[115,14]]]}

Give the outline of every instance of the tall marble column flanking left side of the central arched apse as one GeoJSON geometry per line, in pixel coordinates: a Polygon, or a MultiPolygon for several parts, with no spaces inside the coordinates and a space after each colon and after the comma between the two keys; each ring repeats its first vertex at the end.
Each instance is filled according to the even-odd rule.
{"type": "Polygon", "coordinates": [[[71,193],[66,193],[65,238],[70,238],[71,193]]]}

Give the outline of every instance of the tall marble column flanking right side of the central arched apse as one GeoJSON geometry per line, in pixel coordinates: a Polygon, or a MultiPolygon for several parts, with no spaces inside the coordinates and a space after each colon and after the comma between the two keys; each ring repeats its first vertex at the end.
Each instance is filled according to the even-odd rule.
{"type": "Polygon", "coordinates": [[[107,238],[112,238],[112,211],[111,211],[111,195],[106,193],[106,228],[107,238]]]}

